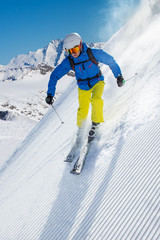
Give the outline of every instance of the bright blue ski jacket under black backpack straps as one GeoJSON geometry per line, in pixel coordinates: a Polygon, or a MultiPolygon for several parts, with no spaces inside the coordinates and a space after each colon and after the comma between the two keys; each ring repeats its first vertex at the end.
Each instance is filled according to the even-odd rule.
{"type": "MultiPolygon", "coordinates": [[[[96,75],[99,74],[100,69],[99,67],[93,63],[91,60],[85,62],[89,59],[89,56],[87,54],[87,45],[83,43],[82,53],[79,57],[73,58],[74,63],[80,63],[78,65],[75,65],[75,76],[77,79],[77,85],[82,90],[90,90],[98,81],[103,81],[104,76],[101,74],[101,76],[96,77],[96,75]],[[94,78],[93,78],[94,77],[94,78]],[[87,78],[90,79],[88,84],[88,80],[85,80],[87,78]],[[84,81],[82,81],[84,79],[84,81]]],[[[116,63],[114,58],[103,51],[102,49],[93,49],[92,48],[93,56],[96,58],[97,62],[104,63],[109,66],[111,69],[113,75],[115,78],[117,78],[119,75],[121,75],[121,70],[119,65],[116,63]]],[[[69,58],[66,57],[61,64],[59,64],[51,73],[50,80],[48,83],[48,91],[47,94],[54,96],[55,90],[56,90],[56,84],[57,81],[62,78],[65,74],[67,74],[70,70],[72,70],[69,58]]]]}

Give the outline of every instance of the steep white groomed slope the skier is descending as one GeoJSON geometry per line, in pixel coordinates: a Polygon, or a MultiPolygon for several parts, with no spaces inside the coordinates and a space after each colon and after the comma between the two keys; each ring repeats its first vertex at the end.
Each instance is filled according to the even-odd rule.
{"type": "Polygon", "coordinates": [[[64,163],[76,132],[74,81],[55,102],[64,124],[50,108],[1,166],[0,239],[158,240],[160,17],[146,10],[141,31],[130,32],[133,19],[106,43],[125,78],[137,75],[118,88],[102,66],[105,122],[82,174],[64,163]]]}

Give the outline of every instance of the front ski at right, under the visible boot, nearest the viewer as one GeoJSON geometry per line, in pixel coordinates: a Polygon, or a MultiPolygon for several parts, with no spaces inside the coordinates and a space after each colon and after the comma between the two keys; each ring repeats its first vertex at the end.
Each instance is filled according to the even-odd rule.
{"type": "Polygon", "coordinates": [[[83,145],[82,150],[80,151],[80,155],[77,158],[77,161],[75,162],[73,169],[70,171],[70,173],[79,175],[82,172],[89,148],[90,142],[87,142],[85,145],[83,145]]]}

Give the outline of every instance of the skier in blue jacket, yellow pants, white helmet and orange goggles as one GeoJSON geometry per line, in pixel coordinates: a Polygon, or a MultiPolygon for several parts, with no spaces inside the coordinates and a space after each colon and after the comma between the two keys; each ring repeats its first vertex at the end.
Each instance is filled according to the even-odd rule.
{"type": "Polygon", "coordinates": [[[117,79],[118,87],[122,87],[125,81],[120,67],[114,58],[102,49],[90,50],[87,45],[82,42],[82,38],[78,33],[66,35],[63,43],[68,56],[53,70],[50,76],[46,102],[48,104],[53,104],[57,81],[70,70],[74,70],[78,85],[79,99],[77,126],[79,131],[81,131],[91,103],[92,126],[88,136],[88,141],[91,141],[95,136],[98,125],[104,121],[102,99],[104,76],[101,73],[98,63],[104,63],[109,66],[114,77],[117,79]]]}

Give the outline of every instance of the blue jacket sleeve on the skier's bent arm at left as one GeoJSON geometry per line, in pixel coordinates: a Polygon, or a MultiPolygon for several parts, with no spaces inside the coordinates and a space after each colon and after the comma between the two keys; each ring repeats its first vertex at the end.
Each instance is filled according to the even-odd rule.
{"type": "Polygon", "coordinates": [[[57,81],[71,70],[68,57],[66,57],[51,73],[47,94],[54,97],[57,81]]]}

